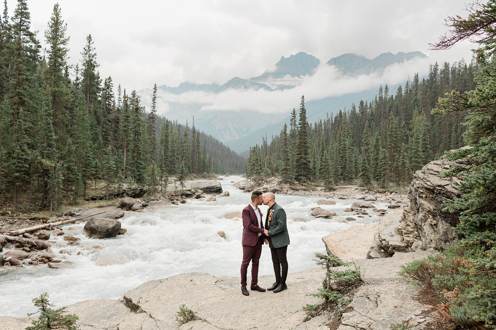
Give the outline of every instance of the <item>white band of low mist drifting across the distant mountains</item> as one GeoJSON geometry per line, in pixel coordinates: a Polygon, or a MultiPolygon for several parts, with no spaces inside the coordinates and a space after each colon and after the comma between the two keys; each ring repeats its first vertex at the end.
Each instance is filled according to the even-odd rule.
{"type": "MultiPolygon", "coordinates": [[[[386,67],[383,72],[357,77],[343,76],[334,66],[321,64],[312,76],[302,78],[300,86],[283,91],[229,89],[219,94],[193,91],[179,95],[158,91],[157,108],[159,113],[165,114],[171,111],[169,103],[179,103],[185,106],[198,105],[202,112],[289,113],[293,108],[299,107],[302,95],[305,95],[306,101],[310,101],[371,90],[378,88],[379,85],[403,84],[408,78],[413,79],[415,73],[419,73],[421,77],[426,75],[431,62],[431,58],[416,57],[410,61],[392,64],[386,67]]],[[[396,93],[396,91],[390,91],[390,93],[396,93]]],[[[143,101],[145,104],[148,103],[147,99],[143,99],[143,101]]]]}

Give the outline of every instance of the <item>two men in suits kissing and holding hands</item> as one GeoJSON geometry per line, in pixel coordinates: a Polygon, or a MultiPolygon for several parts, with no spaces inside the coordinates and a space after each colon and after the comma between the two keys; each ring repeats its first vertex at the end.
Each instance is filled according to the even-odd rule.
{"type": "Polygon", "coordinates": [[[241,264],[241,292],[249,295],[247,289],[248,264],[251,261],[251,290],[264,292],[265,289],[258,285],[258,264],[262,254],[262,245],[268,244],[272,255],[272,264],[276,282],[267,290],[281,292],[286,290],[288,276],[288,260],[286,252],[289,245],[288,226],[286,225],[286,212],[275,201],[272,192],[262,195],[260,190],[251,192],[251,202],[243,209],[243,263],[241,264]],[[267,215],[262,224],[262,212],[259,205],[267,205],[267,215]]]}

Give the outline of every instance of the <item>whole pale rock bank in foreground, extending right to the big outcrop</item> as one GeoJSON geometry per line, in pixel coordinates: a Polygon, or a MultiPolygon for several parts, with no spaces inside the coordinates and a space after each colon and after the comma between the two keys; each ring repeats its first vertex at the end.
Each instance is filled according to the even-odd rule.
{"type": "MultiPolygon", "coordinates": [[[[398,217],[399,213],[390,214],[398,217]]],[[[250,291],[246,297],[240,290],[240,278],[191,273],[143,283],[125,292],[121,299],[86,300],[72,304],[67,311],[79,316],[78,324],[82,330],[177,329],[176,312],[182,304],[199,318],[182,325],[179,328],[182,330],[324,330],[338,326],[339,330],[372,330],[387,329],[390,324],[404,321],[416,325],[415,329],[423,329],[430,318],[421,312],[428,306],[415,300],[417,289],[399,278],[396,272],[401,264],[434,251],[397,252],[392,258],[366,259],[378,226],[354,226],[324,237],[324,240],[340,247],[332,249],[327,244],[333,254],[343,260],[353,258],[363,274],[364,284],[352,294],[342,319],[323,312],[303,322],[305,311],[302,307],[322,302],[321,298],[310,295],[322,287],[325,271],[320,268],[290,274],[288,290],[280,293],[250,291]]],[[[261,286],[269,286],[272,282],[273,276],[259,277],[261,286]]],[[[21,330],[32,320],[33,317],[0,317],[0,330],[21,330]]]]}

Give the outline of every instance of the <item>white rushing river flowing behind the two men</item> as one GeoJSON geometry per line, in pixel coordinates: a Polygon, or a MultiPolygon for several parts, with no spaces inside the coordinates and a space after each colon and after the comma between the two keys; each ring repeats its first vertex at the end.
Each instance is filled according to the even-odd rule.
{"type": "MultiPolygon", "coordinates": [[[[89,239],[82,229],[84,223],[62,227],[66,235],[81,238],[79,246],[62,247],[63,236],[53,243],[54,253],[61,249],[71,250],[64,254],[73,262],[69,269],[50,269],[47,265],[9,267],[0,273],[0,316],[22,317],[36,311],[31,299],[48,292],[50,302],[57,307],[86,300],[120,298],[126,290],[139,284],[163,279],[181,273],[205,272],[215,276],[240,276],[243,250],[241,236],[243,224],[240,220],[224,219],[226,212],[242,211],[248,205],[250,194],[234,187],[239,176],[221,177],[224,191],[229,197],[217,197],[214,202],[188,199],[186,204],[161,212],[136,212],[121,220],[127,229],[124,236],[108,239],[89,239]],[[78,228],[68,231],[69,227],[78,228]],[[226,234],[224,239],[217,232],[226,234]],[[95,249],[92,246],[103,247],[95,249]],[[79,255],[78,255],[78,252],[79,255]],[[115,264],[118,262],[119,264],[115,264]],[[99,266],[105,264],[108,266],[99,266]]],[[[310,208],[320,206],[337,214],[356,200],[335,199],[336,205],[317,205],[317,196],[276,194],[276,202],[284,207],[288,216],[291,244],[288,247],[289,272],[315,267],[313,252],[325,253],[321,240],[330,233],[351,226],[360,226],[378,221],[372,217],[357,218],[348,224],[333,219],[314,219],[310,208]],[[308,222],[294,222],[294,218],[305,218],[308,222]]],[[[358,201],[361,202],[361,201],[358,201]]],[[[385,204],[374,202],[377,207],[385,204]]],[[[260,206],[265,219],[265,205],[260,206]]],[[[5,251],[4,251],[5,252],[5,251]]],[[[250,268],[248,268],[248,276],[250,268]]],[[[270,250],[263,246],[259,275],[273,274],[270,250]]],[[[262,287],[272,283],[260,283],[262,287]]]]}

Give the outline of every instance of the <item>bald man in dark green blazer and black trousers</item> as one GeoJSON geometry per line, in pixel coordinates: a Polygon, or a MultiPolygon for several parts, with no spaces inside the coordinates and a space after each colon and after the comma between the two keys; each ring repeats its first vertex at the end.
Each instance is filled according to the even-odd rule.
{"type": "Polygon", "coordinates": [[[265,244],[269,244],[272,254],[272,264],[276,282],[267,290],[281,292],[286,290],[286,278],[288,276],[288,259],[286,253],[289,245],[288,226],[286,224],[286,212],[275,201],[276,196],[272,192],[263,195],[263,204],[267,205],[267,216],[265,217],[265,244]]]}

